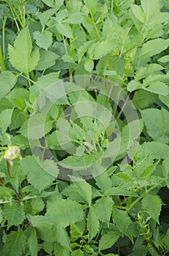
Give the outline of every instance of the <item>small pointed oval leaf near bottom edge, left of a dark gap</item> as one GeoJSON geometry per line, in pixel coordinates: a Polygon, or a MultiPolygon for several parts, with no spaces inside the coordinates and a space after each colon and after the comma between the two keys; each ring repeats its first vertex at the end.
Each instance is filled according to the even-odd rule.
{"type": "Polygon", "coordinates": [[[103,249],[109,249],[113,246],[116,241],[119,239],[119,233],[116,231],[110,231],[109,233],[104,234],[99,241],[99,252],[103,249]]]}

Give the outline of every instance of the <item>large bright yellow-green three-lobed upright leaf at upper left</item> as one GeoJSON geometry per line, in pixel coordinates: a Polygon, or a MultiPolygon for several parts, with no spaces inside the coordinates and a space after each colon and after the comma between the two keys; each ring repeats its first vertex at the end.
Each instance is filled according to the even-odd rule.
{"type": "Polygon", "coordinates": [[[28,27],[25,27],[20,31],[12,45],[8,46],[9,61],[15,69],[20,72],[28,73],[34,70],[39,61],[39,50],[32,51],[31,37],[28,27]],[[24,43],[23,43],[24,42],[24,43]]]}

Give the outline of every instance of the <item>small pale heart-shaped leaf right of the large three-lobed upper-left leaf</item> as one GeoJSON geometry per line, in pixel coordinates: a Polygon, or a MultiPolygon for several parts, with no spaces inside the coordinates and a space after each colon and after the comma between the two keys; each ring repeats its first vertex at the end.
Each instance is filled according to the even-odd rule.
{"type": "Polygon", "coordinates": [[[52,33],[50,31],[34,31],[34,39],[36,39],[36,45],[40,48],[47,50],[52,45],[52,33]]]}

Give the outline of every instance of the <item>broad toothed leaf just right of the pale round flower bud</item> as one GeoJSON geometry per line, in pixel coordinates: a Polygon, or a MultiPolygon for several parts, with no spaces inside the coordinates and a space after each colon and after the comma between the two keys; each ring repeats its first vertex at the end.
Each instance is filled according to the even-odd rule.
{"type": "Polygon", "coordinates": [[[36,162],[36,159],[34,159],[34,157],[24,157],[22,162],[20,162],[20,165],[23,168],[23,174],[27,175],[28,182],[36,187],[39,192],[50,186],[50,184],[52,184],[52,181],[54,181],[55,179],[53,176],[47,173],[47,170],[44,170],[44,168],[42,168],[42,166],[40,166],[39,163],[36,162]]]}

